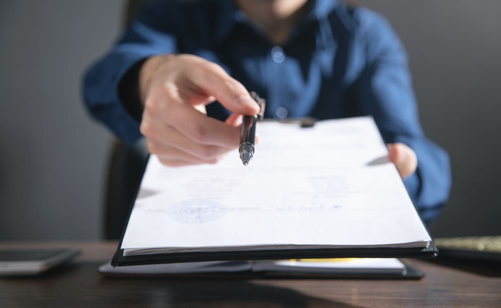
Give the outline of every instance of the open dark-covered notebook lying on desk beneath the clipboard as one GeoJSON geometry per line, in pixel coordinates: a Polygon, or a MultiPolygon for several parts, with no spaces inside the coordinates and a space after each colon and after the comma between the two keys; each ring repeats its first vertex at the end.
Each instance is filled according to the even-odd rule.
{"type": "Polygon", "coordinates": [[[419,279],[424,273],[408,259],[306,259],[257,261],[203,261],[113,267],[98,272],[108,277],[224,278],[224,279],[419,279]],[[402,267],[400,267],[400,264],[402,267]]]}

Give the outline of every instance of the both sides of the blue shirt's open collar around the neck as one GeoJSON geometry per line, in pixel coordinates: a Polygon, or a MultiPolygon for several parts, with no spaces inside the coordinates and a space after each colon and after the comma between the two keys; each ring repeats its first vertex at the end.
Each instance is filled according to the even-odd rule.
{"type": "MultiPolygon", "coordinates": [[[[311,21],[320,21],[326,18],[337,6],[338,0],[309,0],[312,5],[310,12],[306,14],[298,25],[304,25],[311,21]]],[[[232,0],[219,1],[218,20],[215,41],[221,43],[229,34],[235,23],[244,23],[247,19],[245,14],[238,10],[232,0]]]]}

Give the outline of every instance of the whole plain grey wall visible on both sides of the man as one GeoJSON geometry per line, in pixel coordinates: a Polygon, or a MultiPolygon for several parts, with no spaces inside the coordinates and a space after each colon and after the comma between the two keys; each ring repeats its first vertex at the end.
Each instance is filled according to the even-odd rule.
{"type": "MultiPolygon", "coordinates": [[[[451,156],[433,236],[501,235],[501,2],[363,1],[410,56],[426,134],[451,156]]],[[[112,136],[82,72],[117,38],[125,1],[0,2],[0,240],[98,239],[112,136]]]]}

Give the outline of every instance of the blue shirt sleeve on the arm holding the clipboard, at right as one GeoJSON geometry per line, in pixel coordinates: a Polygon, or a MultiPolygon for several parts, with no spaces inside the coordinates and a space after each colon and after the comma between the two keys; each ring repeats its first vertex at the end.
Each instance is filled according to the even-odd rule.
{"type": "Polygon", "coordinates": [[[362,114],[372,115],[386,143],[401,142],[414,150],[418,165],[404,183],[425,222],[447,201],[451,186],[447,153],[424,136],[407,64],[407,54],[390,25],[362,11],[358,39],[366,53],[366,69],[358,87],[362,114]]]}

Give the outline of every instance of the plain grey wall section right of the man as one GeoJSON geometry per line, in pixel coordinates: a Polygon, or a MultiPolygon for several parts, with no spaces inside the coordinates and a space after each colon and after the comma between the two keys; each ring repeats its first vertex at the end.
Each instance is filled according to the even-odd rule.
{"type": "Polygon", "coordinates": [[[451,157],[451,198],[432,235],[501,235],[501,2],[364,4],[383,13],[404,42],[421,123],[451,157]]]}

